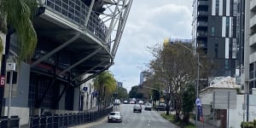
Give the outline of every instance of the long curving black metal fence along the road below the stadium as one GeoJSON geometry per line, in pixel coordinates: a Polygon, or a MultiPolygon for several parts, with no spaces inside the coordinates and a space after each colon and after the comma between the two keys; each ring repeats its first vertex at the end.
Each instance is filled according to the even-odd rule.
{"type": "Polygon", "coordinates": [[[96,112],[54,114],[52,116],[33,116],[30,118],[30,128],[62,128],[74,125],[83,125],[113,111],[113,107],[96,112]]]}

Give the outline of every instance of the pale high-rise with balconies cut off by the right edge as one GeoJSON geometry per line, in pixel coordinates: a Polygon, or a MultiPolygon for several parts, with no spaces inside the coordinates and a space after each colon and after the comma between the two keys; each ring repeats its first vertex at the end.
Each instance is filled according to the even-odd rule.
{"type": "Polygon", "coordinates": [[[245,93],[256,88],[256,1],[245,0],[244,68],[241,70],[241,84],[245,93]]]}

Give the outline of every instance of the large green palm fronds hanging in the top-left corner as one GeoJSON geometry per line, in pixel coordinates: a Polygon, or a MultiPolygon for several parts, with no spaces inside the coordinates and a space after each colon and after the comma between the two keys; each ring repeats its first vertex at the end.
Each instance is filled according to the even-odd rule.
{"type": "Polygon", "coordinates": [[[0,55],[3,55],[3,37],[7,25],[17,34],[19,53],[17,61],[29,61],[36,49],[38,38],[32,25],[32,16],[37,9],[36,0],[0,0],[0,55]]]}

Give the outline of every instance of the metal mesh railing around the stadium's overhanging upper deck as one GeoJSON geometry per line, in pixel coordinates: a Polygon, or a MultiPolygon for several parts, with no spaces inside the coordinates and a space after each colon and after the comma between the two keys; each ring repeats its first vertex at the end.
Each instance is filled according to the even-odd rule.
{"type": "MultiPolygon", "coordinates": [[[[53,10],[56,14],[67,18],[78,26],[84,28],[85,18],[88,15],[89,8],[80,0],[46,0],[46,8],[53,10]]],[[[97,38],[105,43],[108,28],[96,13],[92,11],[86,28],[97,38]]]]}

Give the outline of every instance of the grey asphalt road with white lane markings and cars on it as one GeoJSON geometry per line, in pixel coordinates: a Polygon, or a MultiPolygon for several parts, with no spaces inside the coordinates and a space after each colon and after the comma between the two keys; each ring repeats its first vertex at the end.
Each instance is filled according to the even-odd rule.
{"type": "Polygon", "coordinates": [[[119,111],[123,114],[122,123],[108,123],[107,119],[102,123],[91,125],[90,128],[178,128],[171,122],[160,116],[156,111],[145,111],[133,113],[132,104],[122,104],[119,111]]]}

